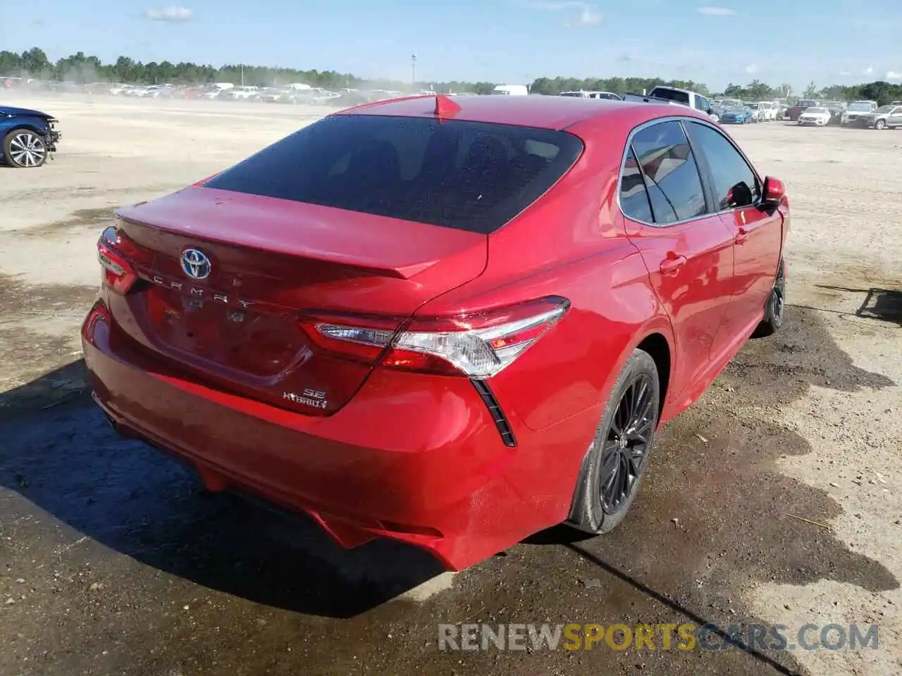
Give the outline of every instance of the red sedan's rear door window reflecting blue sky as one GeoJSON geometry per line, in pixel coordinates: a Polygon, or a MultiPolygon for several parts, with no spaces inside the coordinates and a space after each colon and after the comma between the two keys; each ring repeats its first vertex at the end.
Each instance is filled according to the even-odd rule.
{"type": "Polygon", "coordinates": [[[707,213],[702,178],[683,127],[675,120],[652,124],[632,137],[656,224],[707,213]]]}

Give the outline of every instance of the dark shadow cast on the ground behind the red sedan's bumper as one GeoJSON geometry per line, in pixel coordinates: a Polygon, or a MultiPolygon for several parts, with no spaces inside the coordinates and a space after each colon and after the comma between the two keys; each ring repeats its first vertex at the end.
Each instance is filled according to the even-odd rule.
{"type": "Polygon", "coordinates": [[[87,397],[84,361],[0,395],[0,438],[0,483],[116,552],[204,587],[350,617],[440,572],[414,548],[378,540],[344,551],[306,517],[207,493],[193,472],[107,425],[87,397]],[[82,386],[60,398],[61,383],[82,386]]]}

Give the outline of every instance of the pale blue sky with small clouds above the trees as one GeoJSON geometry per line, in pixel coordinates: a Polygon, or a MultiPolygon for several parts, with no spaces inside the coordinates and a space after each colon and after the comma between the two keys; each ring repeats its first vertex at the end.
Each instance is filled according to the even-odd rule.
{"type": "Polygon", "coordinates": [[[902,0],[41,0],[0,50],[518,84],[557,75],[902,82],[902,0]],[[710,4],[709,4],[710,3],[710,4]]]}

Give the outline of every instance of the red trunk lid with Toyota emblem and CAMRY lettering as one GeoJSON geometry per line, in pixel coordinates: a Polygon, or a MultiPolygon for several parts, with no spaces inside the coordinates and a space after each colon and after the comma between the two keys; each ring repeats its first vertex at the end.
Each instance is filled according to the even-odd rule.
{"type": "Polygon", "coordinates": [[[302,316],[393,328],[487,256],[480,233],[206,187],[117,215],[142,281],[109,294],[115,324],[171,370],[310,415],[344,406],[373,364],[324,350],[302,316]]]}

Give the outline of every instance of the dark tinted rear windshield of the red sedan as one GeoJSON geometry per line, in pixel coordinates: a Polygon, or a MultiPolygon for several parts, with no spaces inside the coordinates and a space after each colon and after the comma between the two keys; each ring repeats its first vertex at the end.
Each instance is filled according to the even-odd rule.
{"type": "Polygon", "coordinates": [[[492,233],[564,175],[568,132],[388,115],[331,115],[207,187],[492,233]]]}

